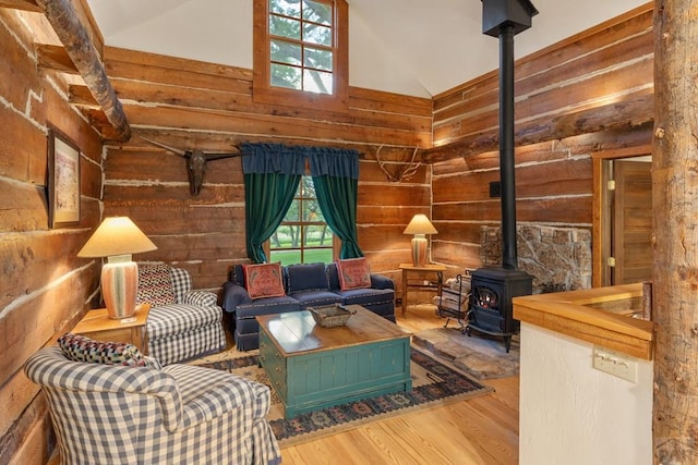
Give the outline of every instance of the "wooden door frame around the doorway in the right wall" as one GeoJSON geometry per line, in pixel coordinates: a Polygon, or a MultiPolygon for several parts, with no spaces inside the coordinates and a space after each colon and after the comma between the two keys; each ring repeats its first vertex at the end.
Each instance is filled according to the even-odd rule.
{"type": "Polygon", "coordinates": [[[606,266],[606,259],[610,257],[609,250],[611,249],[610,231],[612,218],[604,215],[609,211],[611,204],[611,196],[606,189],[606,184],[610,180],[610,163],[611,160],[619,160],[624,158],[634,158],[643,155],[652,154],[651,145],[640,145],[636,147],[625,147],[616,150],[603,150],[591,154],[593,164],[593,224],[591,231],[591,255],[592,255],[592,270],[591,270],[591,285],[593,287],[600,287],[604,285],[605,279],[609,276],[609,267],[606,266]]]}

